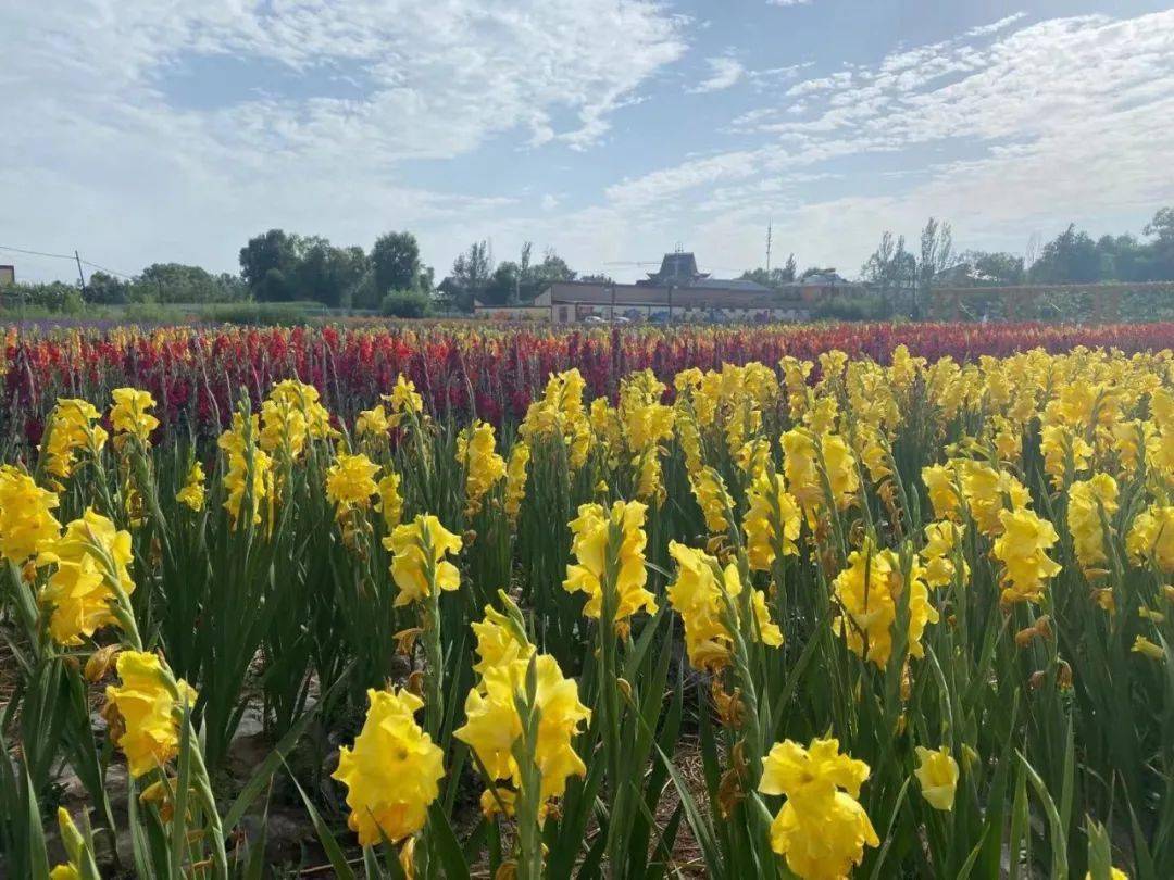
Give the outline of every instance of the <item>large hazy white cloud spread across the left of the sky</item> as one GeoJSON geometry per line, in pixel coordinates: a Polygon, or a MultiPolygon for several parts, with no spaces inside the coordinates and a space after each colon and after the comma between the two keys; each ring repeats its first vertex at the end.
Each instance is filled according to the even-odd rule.
{"type": "Polygon", "coordinates": [[[654,0],[4,4],[0,241],[229,269],[268,225],[427,237],[501,201],[414,187],[404,163],[514,131],[589,148],[684,53],[683,28],[654,0]],[[198,106],[174,92],[193,59],[231,65],[198,106]],[[277,88],[250,87],[257,70],[277,88]],[[323,72],[346,96],[315,92],[323,72]]]}

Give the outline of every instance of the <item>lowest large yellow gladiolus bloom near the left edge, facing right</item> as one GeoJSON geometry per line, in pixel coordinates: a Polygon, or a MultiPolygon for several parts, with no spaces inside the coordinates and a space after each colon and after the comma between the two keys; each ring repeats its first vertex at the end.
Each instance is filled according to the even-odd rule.
{"type": "Polygon", "coordinates": [[[195,704],[196,692],[154,654],[123,651],[117,669],[121,683],[107,686],[103,715],[114,719],[112,737],[137,779],[178,754],[183,705],[195,704]]]}

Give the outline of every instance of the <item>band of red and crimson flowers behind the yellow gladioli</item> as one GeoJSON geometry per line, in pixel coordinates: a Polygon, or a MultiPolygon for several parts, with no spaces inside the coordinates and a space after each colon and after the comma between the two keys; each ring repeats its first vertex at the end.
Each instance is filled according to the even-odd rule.
{"type": "Polygon", "coordinates": [[[1174,324],[832,324],[755,327],[488,329],[470,324],[345,329],[136,327],[21,330],[5,339],[0,439],[36,442],[59,397],[109,399],[112,388],[147,388],[161,432],[208,435],[241,393],[256,402],[272,383],[318,387],[331,412],[350,419],[406,373],[439,414],[493,422],[520,418],[553,371],[579,367],[591,394],[613,394],[619,377],[652,368],[669,379],[689,366],[839,348],[885,361],[904,344],[913,354],[958,361],[1040,347],[1174,346],[1174,324]]]}

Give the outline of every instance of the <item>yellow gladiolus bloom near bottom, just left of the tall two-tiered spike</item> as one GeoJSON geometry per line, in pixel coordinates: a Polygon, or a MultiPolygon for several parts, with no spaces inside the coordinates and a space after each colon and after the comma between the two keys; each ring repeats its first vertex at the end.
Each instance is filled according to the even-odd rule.
{"type": "Polygon", "coordinates": [[[440,792],[444,751],[416,723],[424,706],[419,697],[372,689],[367,700],[355,747],[339,750],[331,778],[346,786],[346,824],[359,845],[375,846],[384,837],[396,844],[424,827],[440,792]]]}

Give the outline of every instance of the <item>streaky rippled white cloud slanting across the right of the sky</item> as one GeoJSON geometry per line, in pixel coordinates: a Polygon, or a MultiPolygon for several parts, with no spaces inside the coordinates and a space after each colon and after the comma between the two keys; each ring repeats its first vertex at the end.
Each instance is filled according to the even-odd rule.
{"type": "Polygon", "coordinates": [[[642,215],[682,199],[710,207],[699,230],[741,223],[750,242],[782,201],[781,239],[804,260],[849,271],[879,230],[912,233],[930,214],[953,219],[958,241],[1021,246],[1024,229],[1143,215],[1174,199],[1174,128],[1158,122],[1174,119],[1174,11],[1011,29],[1016,21],[996,22],[989,45],[974,39],[993,29],[796,83],[737,117],[756,144],[621,181],[608,197],[642,215]],[[807,113],[788,119],[796,97],[807,113]],[[893,158],[876,167],[885,154],[893,158]],[[831,160],[855,169],[861,195],[797,198],[762,185],[831,160]],[[920,172],[886,177],[895,163],[920,172]]]}

